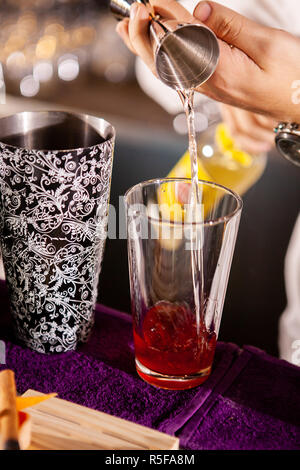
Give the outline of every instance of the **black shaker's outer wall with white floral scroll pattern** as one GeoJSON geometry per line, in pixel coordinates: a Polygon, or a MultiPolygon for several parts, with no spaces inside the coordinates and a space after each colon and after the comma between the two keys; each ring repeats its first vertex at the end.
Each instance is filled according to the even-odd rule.
{"type": "Polygon", "coordinates": [[[40,151],[0,143],[0,234],[18,338],[41,353],[86,341],[106,239],[113,139],[40,151]]]}

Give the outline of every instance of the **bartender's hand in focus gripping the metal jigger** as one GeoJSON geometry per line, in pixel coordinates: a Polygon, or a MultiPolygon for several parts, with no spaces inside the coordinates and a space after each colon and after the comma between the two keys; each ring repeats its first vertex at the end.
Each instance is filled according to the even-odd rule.
{"type": "MultiPolygon", "coordinates": [[[[193,16],[174,0],[150,0],[155,12],[181,22],[204,23],[219,39],[220,61],[197,91],[232,106],[286,121],[300,120],[293,83],[300,78],[300,39],[255,23],[214,2],[200,2],[193,16]]],[[[118,32],[130,49],[155,72],[147,8],[131,7],[118,32]]]]}

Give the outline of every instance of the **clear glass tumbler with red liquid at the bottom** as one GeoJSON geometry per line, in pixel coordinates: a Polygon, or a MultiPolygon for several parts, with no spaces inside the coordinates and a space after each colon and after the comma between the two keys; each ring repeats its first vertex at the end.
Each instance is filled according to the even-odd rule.
{"type": "Polygon", "coordinates": [[[140,183],[125,195],[136,368],[152,385],[187,389],[211,372],[242,211],[241,198],[189,179],[140,183]]]}

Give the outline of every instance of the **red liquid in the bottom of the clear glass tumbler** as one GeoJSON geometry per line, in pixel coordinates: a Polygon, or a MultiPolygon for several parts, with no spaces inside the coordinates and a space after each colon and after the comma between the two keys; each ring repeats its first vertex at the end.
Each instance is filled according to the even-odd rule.
{"type": "MultiPolygon", "coordinates": [[[[185,305],[165,301],[148,310],[141,334],[134,328],[137,360],[150,371],[167,376],[193,376],[209,369],[216,341],[216,334],[208,332],[203,322],[197,328],[195,314],[185,305]]],[[[174,389],[194,387],[207,378],[199,375],[186,384],[164,379],[162,384],[139,368],[138,373],[153,385],[174,389]]]]}

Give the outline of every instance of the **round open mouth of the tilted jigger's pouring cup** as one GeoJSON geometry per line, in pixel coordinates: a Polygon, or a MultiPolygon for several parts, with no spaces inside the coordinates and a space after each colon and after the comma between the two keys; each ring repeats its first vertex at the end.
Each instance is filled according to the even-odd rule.
{"type": "MultiPolygon", "coordinates": [[[[196,38],[195,38],[196,39],[196,38]]],[[[198,39],[198,38],[197,38],[198,39]]],[[[195,44],[195,41],[193,42],[195,44]]],[[[173,52],[173,51],[171,51],[173,52]]],[[[189,51],[188,51],[189,52],[189,51]]],[[[185,56],[186,57],[186,56],[185,56]]],[[[220,58],[220,48],[217,36],[215,33],[205,25],[198,23],[191,24],[178,24],[178,27],[175,31],[169,31],[162,38],[159,47],[155,52],[155,66],[159,78],[166,85],[173,88],[179,89],[191,89],[197,88],[198,86],[205,83],[213,75],[216,70],[220,58]],[[187,31],[188,30],[188,31],[187,31]],[[190,64],[184,63],[185,67],[180,69],[174,69],[174,63],[178,62],[180,59],[181,48],[178,48],[174,55],[176,61],[171,62],[170,54],[170,44],[171,40],[174,37],[181,39],[183,36],[183,41],[181,41],[181,46],[186,43],[188,44],[189,38],[187,33],[190,35],[202,33],[202,39],[205,42],[200,43],[197,41],[199,46],[198,51],[195,48],[191,48],[190,57],[193,59],[193,62],[190,64]],[[185,37],[186,36],[186,37],[185,37]],[[164,51],[164,48],[166,49],[164,51]],[[165,52],[165,53],[164,53],[165,52]],[[195,57],[198,57],[198,61],[195,60],[195,57]],[[167,67],[164,66],[163,62],[167,62],[167,67]],[[199,68],[199,63],[203,63],[203,67],[199,68]],[[196,66],[194,65],[196,64],[196,66]],[[172,70],[172,73],[168,73],[168,69],[172,70]]]]}

